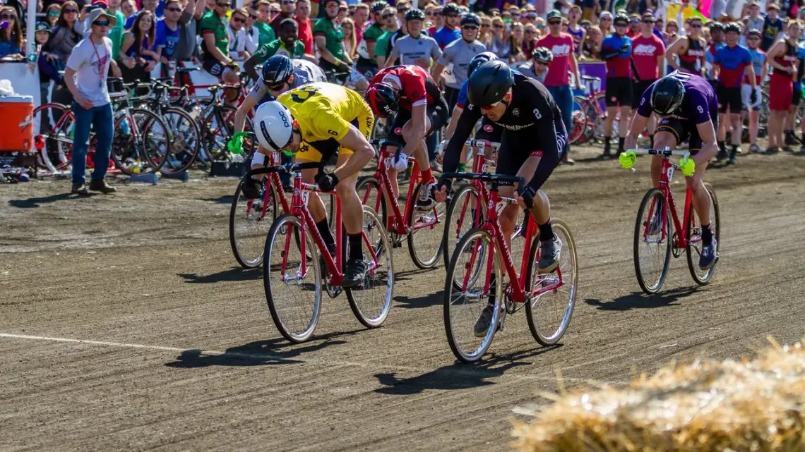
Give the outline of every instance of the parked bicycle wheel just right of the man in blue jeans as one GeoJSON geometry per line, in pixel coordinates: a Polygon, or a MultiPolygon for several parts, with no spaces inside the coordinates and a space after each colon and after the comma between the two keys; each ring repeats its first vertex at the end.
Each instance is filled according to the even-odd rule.
{"type": "Polygon", "coordinates": [[[118,117],[114,125],[114,141],[112,146],[111,157],[115,166],[126,175],[134,174],[149,174],[159,171],[163,166],[165,157],[170,152],[171,143],[167,135],[167,125],[165,122],[156,115],[146,109],[129,109],[126,114],[118,117]],[[131,124],[124,126],[124,121],[129,121],[131,124]],[[146,138],[150,137],[151,128],[159,126],[164,135],[163,150],[159,146],[149,146],[146,138]],[[118,134],[118,127],[121,129],[118,134]],[[135,134],[131,133],[131,129],[136,128],[135,134]],[[128,133],[125,130],[128,129],[128,133]],[[137,142],[137,141],[140,142],[137,142]],[[134,146],[132,149],[131,146],[134,146]],[[124,152],[130,154],[122,154],[124,152]],[[139,163],[138,163],[139,162],[139,163]],[[135,172],[134,168],[139,171],[135,172]]]}

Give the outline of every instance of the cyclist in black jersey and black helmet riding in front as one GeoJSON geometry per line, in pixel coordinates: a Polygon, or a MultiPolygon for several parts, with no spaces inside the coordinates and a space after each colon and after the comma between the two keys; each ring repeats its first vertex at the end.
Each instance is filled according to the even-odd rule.
{"type": "MultiPolygon", "coordinates": [[[[502,125],[501,147],[497,155],[497,174],[518,175],[529,181],[519,193],[521,207],[528,208],[539,225],[541,253],[539,271],[552,272],[559,261],[562,243],[551,229],[551,204],[542,191],[543,183],[559,165],[567,131],[562,114],[551,93],[539,81],[514,73],[500,60],[478,67],[469,77],[469,105],[456,125],[444,153],[444,171],[456,171],[461,149],[481,116],[502,125]]],[[[515,187],[500,187],[502,196],[514,195],[515,187]]],[[[439,187],[436,200],[444,201],[448,187],[439,187]]],[[[514,232],[518,206],[509,205],[500,215],[507,242],[514,232]]],[[[508,243],[510,245],[510,243],[508,243]]],[[[482,337],[489,329],[494,299],[489,298],[475,324],[475,335],[482,337]]]]}

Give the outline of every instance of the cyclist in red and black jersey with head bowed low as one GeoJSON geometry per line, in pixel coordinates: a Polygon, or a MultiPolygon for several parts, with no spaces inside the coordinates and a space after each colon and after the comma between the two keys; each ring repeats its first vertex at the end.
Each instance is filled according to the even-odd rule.
{"type": "MultiPolygon", "coordinates": [[[[378,117],[394,117],[389,138],[403,145],[389,169],[394,196],[399,194],[397,172],[408,166],[408,156],[414,155],[422,171],[423,183],[433,183],[431,162],[427,158],[425,137],[441,129],[448,121],[448,103],[431,74],[414,65],[392,66],[372,77],[366,90],[366,101],[378,117]]],[[[420,191],[417,206],[431,208],[430,187],[420,191]]]]}

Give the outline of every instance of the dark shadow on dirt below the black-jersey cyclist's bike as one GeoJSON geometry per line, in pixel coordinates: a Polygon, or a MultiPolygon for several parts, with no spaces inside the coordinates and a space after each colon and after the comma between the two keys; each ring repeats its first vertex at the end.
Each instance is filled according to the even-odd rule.
{"type": "Polygon", "coordinates": [[[533,364],[531,360],[526,360],[526,358],[542,355],[547,351],[553,351],[560,347],[562,347],[562,344],[536,350],[516,351],[508,355],[490,353],[487,358],[475,364],[464,364],[456,361],[454,364],[410,378],[399,378],[397,372],[376,373],[374,376],[380,384],[384,385],[384,388],[375,389],[374,392],[407,396],[418,394],[425,389],[450,391],[488,386],[489,384],[494,384],[489,379],[502,376],[510,368],[533,364]]]}

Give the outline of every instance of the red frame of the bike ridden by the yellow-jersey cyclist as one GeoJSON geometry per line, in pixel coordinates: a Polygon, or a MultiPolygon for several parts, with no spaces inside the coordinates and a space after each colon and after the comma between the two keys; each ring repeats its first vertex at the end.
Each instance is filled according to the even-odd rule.
{"type": "MultiPolygon", "coordinates": [[[[300,165],[295,165],[295,168],[301,167],[316,167],[319,163],[313,164],[311,166],[310,163],[303,163],[300,165]]],[[[276,174],[275,174],[276,175],[276,174]]],[[[277,175],[277,179],[279,180],[279,175],[277,175]]],[[[305,275],[308,273],[308,255],[307,255],[307,247],[308,247],[308,237],[306,234],[311,233],[313,235],[313,241],[316,243],[316,248],[319,249],[319,253],[324,257],[324,265],[327,265],[329,273],[331,275],[330,285],[331,286],[341,286],[341,281],[344,279],[344,273],[341,269],[344,268],[344,257],[342,256],[343,253],[336,253],[335,260],[333,260],[332,256],[330,255],[327,245],[324,244],[324,239],[322,239],[321,234],[319,233],[319,229],[316,228],[316,222],[313,220],[313,216],[311,215],[310,211],[308,210],[308,200],[310,198],[310,193],[315,191],[316,193],[328,193],[330,195],[335,195],[335,191],[324,192],[320,191],[319,187],[313,183],[306,183],[302,180],[302,173],[297,171],[294,175],[294,191],[293,195],[291,195],[291,215],[298,217],[302,220],[304,226],[306,228],[302,228],[301,236],[299,237],[299,253],[302,255],[302,263],[301,263],[301,272],[302,274],[300,277],[304,278],[305,275]]],[[[283,204],[284,205],[284,204],[283,204]]],[[[335,230],[336,230],[336,249],[341,250],[343,245],[343,236],[341,234],[342,229],[342,222],[341,222],[341,199],[338,199],[336,195],[336,218],[335,218],[335,230]]],[[[369,264],[369,274],[374,275],[378,271],[378,255],[375,253],[374,248],[371,244],[369,244],[369,238],[366,236],[366,232],[361,231],[361,235],[363,236],[363,244],[367,253],[372,257],[371,263],[369,264]]],[[[291,249],[291,236],[293,234],[288,233],[285,237],[285,249],[291,249]]],[[[388,251],[386,251],[388,253],[388,251]]],[[[287,270],[287,261],[288,261],[288,254],[283,253],[283,265],[282,265],[282,273],[286,274],[287,270]]],[[[311,253],[311,255],[314,255],[311,253]]]]}

